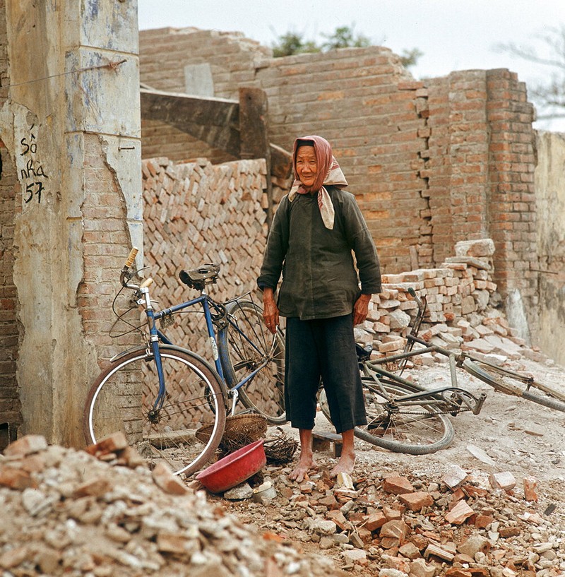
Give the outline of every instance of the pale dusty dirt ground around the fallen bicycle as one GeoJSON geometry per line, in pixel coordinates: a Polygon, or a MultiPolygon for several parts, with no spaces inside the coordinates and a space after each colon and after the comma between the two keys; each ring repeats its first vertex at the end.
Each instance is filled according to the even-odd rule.
{"type": "MultiPolygon", "coordinates": [[[[537,381],[565,393],[565,368],[549,359],[534,362],[523,358],[509,361],[507,366],[533,374],[537,381]]],[[[408,374],[426,387],[450,383],[446,364],[412,369],[408,374]]],[[[540,481],[565,480],[564,412],[494,391],[463,370],[458,370],[457,379],[458,386],[475,395],[485,393],[487,400],[480,415],[463,412],[450,417],[455,429],[451,446],[432,455],[410,456],[373,448],[360,441],[359,462],[422,470],[428,474],[455,463],[466,470],[509,471],[516,479],[533,475],[540,481]],[[474,456],[471,452],[474,448],[486,453],[494,463],[474,456]]],[[[481,456],[477,451],[475,454],[481,456]]]]}

